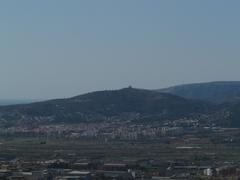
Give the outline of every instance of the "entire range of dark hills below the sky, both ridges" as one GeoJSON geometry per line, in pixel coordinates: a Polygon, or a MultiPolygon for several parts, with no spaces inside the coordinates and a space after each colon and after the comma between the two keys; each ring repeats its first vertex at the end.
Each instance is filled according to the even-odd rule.
{"type": "Polygon", "coordinates": [[[198,118],[240,127],[240,82],[189,84],[160,90],[124,88],[66,99],[0,107],[0,126],[198,118]],[[205,118],[203,118],[205,117],[205,118]]]}

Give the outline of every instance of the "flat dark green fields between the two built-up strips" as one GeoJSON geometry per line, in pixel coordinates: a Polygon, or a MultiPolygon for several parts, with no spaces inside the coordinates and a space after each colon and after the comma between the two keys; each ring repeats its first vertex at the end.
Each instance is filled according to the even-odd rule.
{"type": "Polygon", "coordinates": [[[121,162],[124,160],[187,160],[196,163],[240,161],[239,145],[212,144],[207,139],[187,146],[196,149],[177,149],[185,146],[183,140],[170,144],[158,142],[99,142],[86,140],[49,140],[42,144],[37,138],[1,139],[0,157],[49,160],[66,158],[75,154],[78,158],[102,159],[121,162]]]}

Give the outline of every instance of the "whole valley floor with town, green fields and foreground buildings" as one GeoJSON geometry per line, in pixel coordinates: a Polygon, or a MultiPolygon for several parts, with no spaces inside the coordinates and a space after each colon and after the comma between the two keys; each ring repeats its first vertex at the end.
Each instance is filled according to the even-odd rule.
{"type": "Polygon", "coordinates": [[[1,129],[1,179],[238,179],[239,128],[179,119],[1,129]],[[4,152],[7,151],[7,156],[4,152]]]}

